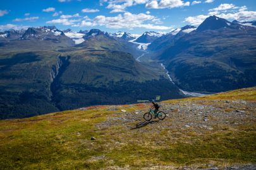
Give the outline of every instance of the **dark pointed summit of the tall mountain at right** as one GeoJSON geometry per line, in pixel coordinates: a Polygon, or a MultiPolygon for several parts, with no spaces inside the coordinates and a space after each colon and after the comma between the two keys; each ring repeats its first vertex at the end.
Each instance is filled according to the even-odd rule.
{"type": "Polygon", "coordinates": [[[231,25],[231,22],[213,15],[206,18],[198,26],[197,31],[218,30],[220,28],[229,27],[229,25],[231,25]]]}

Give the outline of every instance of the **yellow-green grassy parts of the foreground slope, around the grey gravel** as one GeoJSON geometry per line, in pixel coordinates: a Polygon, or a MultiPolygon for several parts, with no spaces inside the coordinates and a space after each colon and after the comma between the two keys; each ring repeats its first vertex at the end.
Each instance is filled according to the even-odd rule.
{"type": "MultiPolygon", "coordinates": [[[[256,88],[202,98],[169,100],[162,105],[181,101],[215,105],[219,101],[216,99],[255,102],[256,88]]],[[[111,166],[140,169],[154,165],[196,164],[204,167],[205,164],[226,166],[256,162],[255,119],[241,119],[243,124],[236,127],[219,124],[214,130],[200,131],[193,128],[166,130],[161,128],[161,123],[133,130],[122,123],[104,124],[107,118],[118,119],[121,109],[130,114],[146,108],[149,108],[148,104],[97,106],[87,110],[1,120],[0,169],[99,169],[111,166]],[[92,136],[96,140],[90,140],[92,136]]],[[[250,114],[255,116],[255,108],[250,114]]],[[[138,117],[141,119],[128,125],[132,127],[141,122],[142,114],[138,117]]],[[[162,123],[171,125],[177,122],[166,118],[162,123]]]]}

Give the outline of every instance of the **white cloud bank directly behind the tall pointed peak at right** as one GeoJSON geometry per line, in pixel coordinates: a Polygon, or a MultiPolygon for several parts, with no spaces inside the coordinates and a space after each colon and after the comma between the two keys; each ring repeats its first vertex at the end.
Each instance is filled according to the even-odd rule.
{"type": "MultiPolygon", "coordinates": [[[[229,6],[231,7],[231,6],[229,6]]],[[[209,10],[208,14],[201,14],[198,16],[189,16],[185,18],[185,22],[190,23],[191,25],[200,25],[207,17],[211,15],[216,15],[219,18],[224,18],[226,20],[238,20],[238,21],[253,21],[256,20],[256,11],[247,11],[246,6],[241,7],[232,7],[232,8],[214,8],[214,10],[209,10]],[[217,10],[217,11],[216,11],[217,10]]]]}

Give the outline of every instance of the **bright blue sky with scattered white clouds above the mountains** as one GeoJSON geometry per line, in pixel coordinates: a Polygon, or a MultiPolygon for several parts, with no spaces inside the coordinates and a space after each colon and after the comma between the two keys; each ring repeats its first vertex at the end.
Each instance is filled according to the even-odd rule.
{"type": "Polygon", "coordinates": [[[256,20],[255,0],[1,0],[0,30],[55,25],[64,30],[169,32],[216,14],[256,20]]]}

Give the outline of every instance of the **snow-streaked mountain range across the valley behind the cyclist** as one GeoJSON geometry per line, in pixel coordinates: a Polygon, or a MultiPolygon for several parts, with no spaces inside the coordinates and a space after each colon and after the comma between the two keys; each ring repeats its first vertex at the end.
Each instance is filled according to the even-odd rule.
{"type": "Polygon", "coordinates": [[[4,31],[1,118],[256,86],[255,40],[255,21],[217,16],[197,28],[142,35],[55,26],[4,31]]]}

